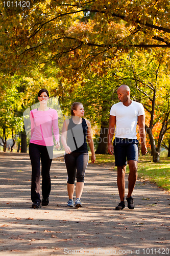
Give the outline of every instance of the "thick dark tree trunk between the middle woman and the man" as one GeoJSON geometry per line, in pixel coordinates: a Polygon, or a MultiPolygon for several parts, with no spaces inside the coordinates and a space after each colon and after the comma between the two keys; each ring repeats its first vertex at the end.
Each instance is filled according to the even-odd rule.
{"type": "Polygon", "coordinates": [[[100,137],[98,140],[98,148],[95,151],[95,154],[107,154],[107,136],[108,136],[108,123],[102,122],[101,123],[101,131],[100,131],[100,137]]]}

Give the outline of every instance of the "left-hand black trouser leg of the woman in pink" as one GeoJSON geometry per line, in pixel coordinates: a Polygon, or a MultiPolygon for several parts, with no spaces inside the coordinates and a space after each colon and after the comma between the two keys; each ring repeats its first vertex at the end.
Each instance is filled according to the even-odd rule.
{"type": "Polygon", "coordinates": [[[32,179],[31,179],[31,200],[36,202],[40,200],[40,150],[39,145],[29,144],[29,155],[32,165],[32,179]]]}

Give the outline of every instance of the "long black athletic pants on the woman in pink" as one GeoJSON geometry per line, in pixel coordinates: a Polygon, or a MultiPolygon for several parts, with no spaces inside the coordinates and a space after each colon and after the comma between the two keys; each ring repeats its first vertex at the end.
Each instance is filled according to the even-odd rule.
{"type": "MultiPolygon", "coordinates": [[[[29,144],[29,155],[32,165],[31,179],[31,200],[41,202],[40,199],[40,159],[41,159],[41,175],[42,175],[42,198],[47,199],[51,191],[50,167],[52,159],[50,159],[48,151],[53,152],[53,146],[42,146],[34,143],[29,144]]],[[[51,154],[50,154],[51,155],[51,154]]]]}

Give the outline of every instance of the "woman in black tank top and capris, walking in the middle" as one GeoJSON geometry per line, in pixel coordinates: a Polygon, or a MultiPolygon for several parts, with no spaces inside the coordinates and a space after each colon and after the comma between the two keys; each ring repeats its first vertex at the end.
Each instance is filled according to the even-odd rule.
{"type": "Polygon", "coordinates": [[[74,102],[71,105],[71,118],[63,123],[61,141],[64,146],[64,160],[67,168],[68,207],[74,207],[73,195],[76,183],[75,206],[81,207],[81,195],[84,187],[84,174],[88,164],[87,142],[91,150],[91,161],[95,162],[94,144],[91,136],[91,125],[82,118],[84,108],[82,103],[74,102]],[[87,139],[87,142],[86,142],[87,139]]]}

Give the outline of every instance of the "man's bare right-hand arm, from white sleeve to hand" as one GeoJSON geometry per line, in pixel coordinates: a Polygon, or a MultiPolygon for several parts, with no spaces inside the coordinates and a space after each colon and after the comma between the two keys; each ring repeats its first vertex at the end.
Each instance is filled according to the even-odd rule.
{"type": "Polygon", "coordinates": [[[138,116],[139,135],[141,140],[141,152],[143,155],[147,154],[148,150],[145,145],[145,117],[144,115],[138,116]]]}

